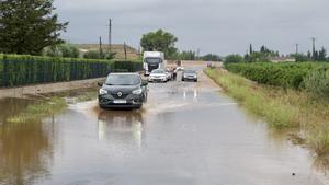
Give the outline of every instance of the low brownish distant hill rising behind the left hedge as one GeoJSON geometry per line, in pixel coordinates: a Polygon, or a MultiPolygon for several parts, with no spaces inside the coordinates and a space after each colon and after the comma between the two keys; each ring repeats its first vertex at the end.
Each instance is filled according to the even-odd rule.
{"type": "MultiPolygon", "coordinates": [[[[86,53],[88,50],[99,50],[100,45],[98,44],[77,44],[78,48],[81,53],[86,53]]],[[[127,58],[129,60],[137,60],[139,59],[138,50],[132,46],[126,45],[127,48],[127,58]]],[[[109,45],[103,45],[102,49],[104,51],[109,50],[109,45]]],[[[123,44],[113,44],[112,45],[112,51],[116,53],[115,58],[116,59],[124,59],[124,45],[123,44]]]]}

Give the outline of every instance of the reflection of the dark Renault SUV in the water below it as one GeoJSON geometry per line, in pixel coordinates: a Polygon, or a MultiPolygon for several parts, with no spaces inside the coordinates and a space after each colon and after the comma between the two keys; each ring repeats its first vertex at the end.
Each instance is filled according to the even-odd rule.
{"type": "Polygon", "coordinates": [[[101,111],[98,119],[99,140],[121,148],[123,148],[122,144],[140,148],[144,134],[143,123],[143,115],[137,111],[101,111]]]}

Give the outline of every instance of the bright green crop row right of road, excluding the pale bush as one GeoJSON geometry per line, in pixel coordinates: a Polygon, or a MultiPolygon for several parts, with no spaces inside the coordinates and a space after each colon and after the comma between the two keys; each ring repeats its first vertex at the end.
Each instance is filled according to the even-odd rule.
{"type": "MultiPolygon", "coordinates": [[[[327,63],[231,63],[227,70],[262,84],[305,89],[305,79],[316,71],[327,71],[327,63]]],[[[320,80],[320,79],[319,79],[320,80]]]]}

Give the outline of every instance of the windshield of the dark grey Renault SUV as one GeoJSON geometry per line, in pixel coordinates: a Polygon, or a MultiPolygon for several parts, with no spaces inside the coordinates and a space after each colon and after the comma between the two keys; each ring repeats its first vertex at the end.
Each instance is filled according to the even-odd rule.
{"type": "Polygon", "coordinates": [[[137,74],[110,74],[105,84],[107,85],[138,85],[140,77],[137,74]]]}

